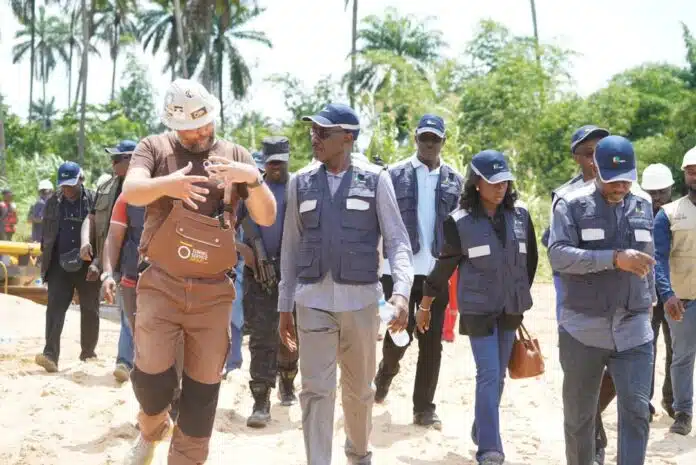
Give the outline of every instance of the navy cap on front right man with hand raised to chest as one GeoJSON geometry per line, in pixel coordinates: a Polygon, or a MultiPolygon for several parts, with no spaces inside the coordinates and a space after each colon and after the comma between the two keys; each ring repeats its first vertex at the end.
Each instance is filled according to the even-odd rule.
{"type": "Polygon", "coordinates": [[[638,180],[633,144],[621,136],[607,136],[597,143],[594,162],[602,182],[638,180]]]}

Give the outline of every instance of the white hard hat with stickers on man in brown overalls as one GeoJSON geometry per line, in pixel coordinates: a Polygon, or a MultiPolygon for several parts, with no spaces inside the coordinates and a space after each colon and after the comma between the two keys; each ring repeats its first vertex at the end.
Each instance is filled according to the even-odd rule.
{"type": "Polygon", "coordinates": [[[220,113],[220,101],[201,84],[190,79],[177,79],[164,96],[160,118],[169,129],[198,129],[212,122],[220,113]]]}

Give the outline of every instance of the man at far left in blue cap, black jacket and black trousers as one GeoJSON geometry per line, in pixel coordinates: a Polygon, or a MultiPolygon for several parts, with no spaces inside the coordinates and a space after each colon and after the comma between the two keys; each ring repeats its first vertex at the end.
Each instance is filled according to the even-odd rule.
{"type": "Polygon", "coordinates": [[[58,191],[48,198],[41,238],[41,277],[48,285],[46,345],[36,363],[49,373],[58,370],[60,336],[75,291],[80,298],[80,360],[95,358],[99,338],[99,284],[87,280],[88,264],[80,258],[80,227],[94,204],[94,193],[82,185],[77,163],[58,168],[58,191]]]}

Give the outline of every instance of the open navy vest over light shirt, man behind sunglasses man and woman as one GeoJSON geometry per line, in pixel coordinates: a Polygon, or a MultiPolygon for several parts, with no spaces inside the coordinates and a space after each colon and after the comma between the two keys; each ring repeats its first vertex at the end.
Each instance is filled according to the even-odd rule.
{"type": "MultiPolygon", "coordinates": [[[[418,238],[418,180],[412,159],[398,163],[389,168],[389,175],[394,184],[396,201],[399,204],[401,218],[406,225],[411,249],[414,254],[420,251],[421,245],[429,246],[433,257],[438,257],[444,242],[443,224],[447,215],[457,208],[462,192],[463,178],[449,165],[440,165],[440,177],[435,191],[435,235],[432,244],[421,244],[418,238]]],[[[386,257],[386,255],[385,255],[386,257]]]]}

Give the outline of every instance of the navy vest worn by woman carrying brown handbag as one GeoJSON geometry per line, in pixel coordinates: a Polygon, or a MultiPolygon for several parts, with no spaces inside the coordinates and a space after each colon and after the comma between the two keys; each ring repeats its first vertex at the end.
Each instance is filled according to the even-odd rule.
{"type": "Polygon", "coordinates": [[[529,212],[518,204],[505,211],[505,243],[486,216],[456,210],[462,246],[457,304],[462,314],[521,314],[532,307],[527,272],[529,212]]]}

